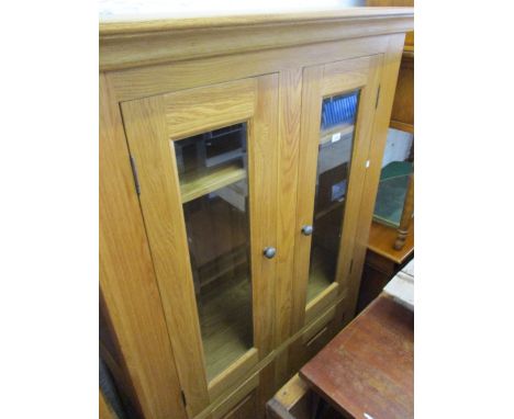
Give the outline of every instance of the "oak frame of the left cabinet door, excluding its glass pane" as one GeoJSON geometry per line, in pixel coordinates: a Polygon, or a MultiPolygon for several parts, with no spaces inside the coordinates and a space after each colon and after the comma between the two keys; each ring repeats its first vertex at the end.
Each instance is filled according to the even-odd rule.
{"type": "Polygon", "coordinates": [[[278,75],[154,95],[121,106],[130,152],[137,165],[141,207],[169,338],[187,409],[193,417],[273,344],[276,260],[264,258],[262,249],[277,246],[278,75]],[[248,122],[254,350],[208,382],[171,141],[243,121],[248,122]]]}

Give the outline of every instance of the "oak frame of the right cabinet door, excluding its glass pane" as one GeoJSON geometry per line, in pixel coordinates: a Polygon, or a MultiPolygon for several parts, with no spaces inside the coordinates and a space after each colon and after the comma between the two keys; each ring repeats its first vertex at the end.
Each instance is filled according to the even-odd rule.
{"type": "Polygon", "coordinates": [[[301,141],[299,156],[299,186],[294,249],[292,331],[314,320],[327,306],[347,294],[347,281],[353,268],[353,251],[361,186],[366,175],[366,160],[371,141],[375,104],[382,54],[306,67],[303,70],[301,141]],[[306,304],[312,236],[302,236],[303,225],[312,225],[315,197],[315,177],[320,144],[320,121],[323,99],[359,90],[350,159],[348,191],[342,219],[342,238],[337,257],[336,281],[306,304]],[[343,246],[345,245],[345,246],[343,246]]]}

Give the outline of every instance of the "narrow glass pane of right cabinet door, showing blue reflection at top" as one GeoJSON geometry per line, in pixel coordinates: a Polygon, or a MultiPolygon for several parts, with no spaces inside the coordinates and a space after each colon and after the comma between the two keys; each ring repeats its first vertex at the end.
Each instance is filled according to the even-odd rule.
{"type": "Polygon", "coordinates": [[[308,303],[336,276],[358,93],[323,101],[308,303]]]}

